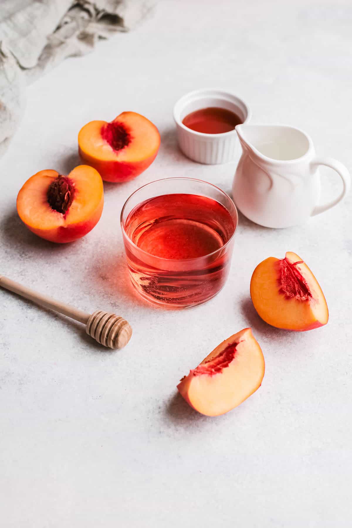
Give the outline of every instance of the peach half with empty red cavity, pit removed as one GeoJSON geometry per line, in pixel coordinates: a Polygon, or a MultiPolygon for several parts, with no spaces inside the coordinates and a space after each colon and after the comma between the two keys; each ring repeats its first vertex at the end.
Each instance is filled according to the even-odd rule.
{"type": "Polygon", "coordinates": [[[78,134],[80,156],[106,182],[127,182],[141,174],[159,146],[156,126],[136,112],[122,112],[109,123],[90,121],[78,134]]]}

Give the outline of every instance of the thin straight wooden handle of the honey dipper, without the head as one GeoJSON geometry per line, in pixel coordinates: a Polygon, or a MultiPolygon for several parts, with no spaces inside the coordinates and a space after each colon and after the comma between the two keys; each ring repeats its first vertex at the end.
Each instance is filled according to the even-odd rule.
{"type": "Polygon", "coordinates": [[[54,312],[59,312],[60,314],[71,317],[71,319],[75,319],[80,323],[87,324],[90,317],[90,314],[82,312],[82,310],[73,308],[73,306],[70,306],[69,304],[60,303],[51,297],[42,295],[37,291],[31,290],[30,288],[26,288],[26,286],[23,286],[14,280],[8,279],[7,277],[0,276],[0,286],[7,290],[13,291],[15,294],[21,295],[21,297],[32,300],[34,303],[40,304],[45,308],[50,308],[51,310],[54,310],[54,312]]]}

